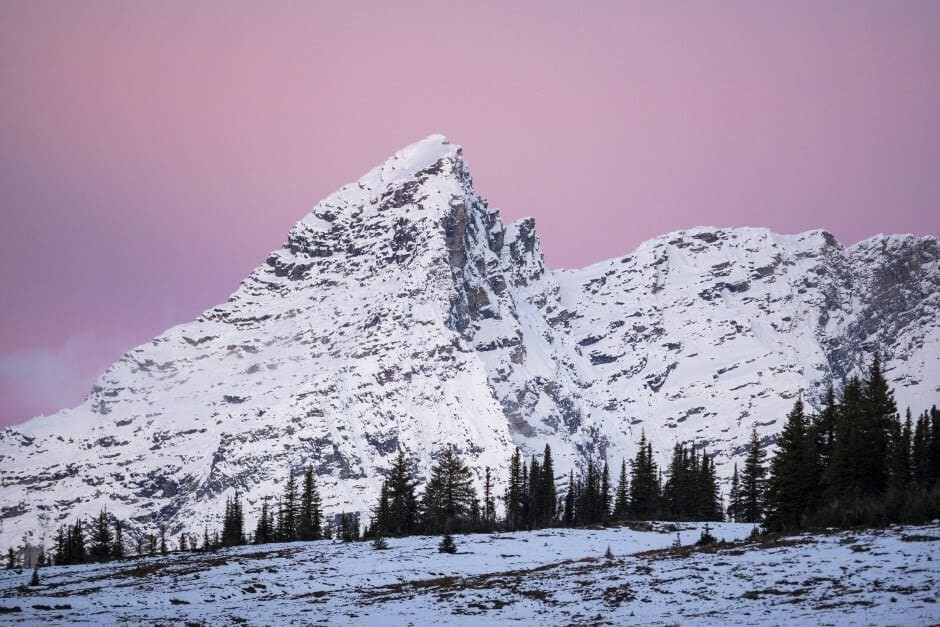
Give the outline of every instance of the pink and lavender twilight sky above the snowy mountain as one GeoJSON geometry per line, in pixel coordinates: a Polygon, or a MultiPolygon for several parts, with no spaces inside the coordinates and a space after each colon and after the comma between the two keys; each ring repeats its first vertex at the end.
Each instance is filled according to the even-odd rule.
{"type": "Polygon", "coordinates": [[[940,233],[940,3],[0,0],[0,426],[224,301],[432,133],[552,267],[940,233]]]}

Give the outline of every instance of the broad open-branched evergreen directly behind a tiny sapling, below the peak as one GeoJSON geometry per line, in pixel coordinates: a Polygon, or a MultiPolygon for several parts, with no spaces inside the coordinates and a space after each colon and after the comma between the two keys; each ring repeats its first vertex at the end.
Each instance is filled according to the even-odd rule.
{"type": "Polygon", "coordinates": [[[457,453],[448,448],[431,467],[424,490],[422,514],[429,533],[461,529],[467,525],[476,499],[470,469],[457,453]]]}

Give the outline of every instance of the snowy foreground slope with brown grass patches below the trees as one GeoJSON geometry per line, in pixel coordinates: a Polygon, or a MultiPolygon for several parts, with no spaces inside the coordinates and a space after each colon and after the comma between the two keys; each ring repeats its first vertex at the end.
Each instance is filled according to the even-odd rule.
{"type": "MultiPolygon", "coordinates": [[[[0,572],[0,623],[904,624],[940,622],[940,523],[707,551],[684,524],[311,542],[0,572]],[[607,547],[613,559],[603,557],[607,547]],[[13,608],[20,608],[19,611],[13,608]]],[[[726,540],[750,525],[713,525],[726,540]]]]}

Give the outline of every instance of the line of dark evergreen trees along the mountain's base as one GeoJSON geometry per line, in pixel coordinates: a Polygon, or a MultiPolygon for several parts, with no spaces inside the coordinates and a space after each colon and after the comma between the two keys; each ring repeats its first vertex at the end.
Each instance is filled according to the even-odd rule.
{"type": "MultiPolygon", "coordinates": [[[[702,447],[676,444],[664,472],[645,433],[633,459],[621,460],[616,482],[606,459],[589,459],[578,472],[559,477],[551,448],[523,458],[516,449],[504,469],[501,494],[495,473],[474,472],[454,448],[437,453],[421,485],[416,464],[399,450],[385,472],[365,525],[366,538],[418,534],[517,531],[546,527],[605,525],[627,520],[730,520],[762,524],[766,530],[822,526],[918,523],[940,516],[940,411],[936,407],[901,420],[881,362],[864,379],[850,379],[838,400],[829,387],[820,411],[808,415],[798,399],[767,450],[752,429],[743,468],[734,466],[727,507],[713,458],[702,447]],[[567,481],[564,481],[567,479],[567,481]],[[502,503],[502,516],[497,514],[502,503]]],[[[198,539],[180,534],[180,550],[210,551],[247,543],[360,539],[356,513],[325,516],[313,467],[298,485],[293,472],[272,504],[264,499],[253,533],[245,529],[239,494],[226,500],[221,530],[198,539]]],[[[452,543],[451,543],[452,544],[452,543]]],[[[137,538],[138,555],[167,554],[166,528],[137,538]]],[[[102,511],[91,525],[76,520],[59,528],[51,556],[39,565],[119,559],[125,555],[121,522],[102,511]],[[90,527],[86,530],[86,527],[90,527]]],[[[7,565],[16,556],[11,548],[7,565]]]]}

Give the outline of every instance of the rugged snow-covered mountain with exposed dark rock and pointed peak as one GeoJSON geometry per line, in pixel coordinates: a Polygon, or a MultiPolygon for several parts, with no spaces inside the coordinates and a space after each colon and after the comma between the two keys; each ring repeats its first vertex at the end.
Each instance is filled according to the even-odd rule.
{"type": "Polygon", "coordinates": [[[801,392],[886,355],[899,405],[940,401],[940,246],[696,228],[583,270],[545,266],[461,149],[431,136],[323,200],[229,300],[137,347],[86,401],[0,432],[0,546],[107,507],[137,530],[251,517],[313,464],[368,511],[399,447],[502,471],[697,441],[730,473],[801,392]]]}

